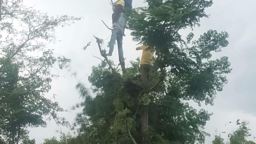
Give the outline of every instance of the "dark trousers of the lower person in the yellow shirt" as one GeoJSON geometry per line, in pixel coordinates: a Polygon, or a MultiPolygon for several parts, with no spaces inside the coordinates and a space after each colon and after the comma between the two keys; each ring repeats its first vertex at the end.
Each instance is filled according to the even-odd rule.
{"type": "Polygon", "coordinates": [[[150,89],[149,75],[150,75],[151,67],[152,66],[148,64],[141,65],[141,81],[143,84],[144,91],[147,91],[150,89]]]}

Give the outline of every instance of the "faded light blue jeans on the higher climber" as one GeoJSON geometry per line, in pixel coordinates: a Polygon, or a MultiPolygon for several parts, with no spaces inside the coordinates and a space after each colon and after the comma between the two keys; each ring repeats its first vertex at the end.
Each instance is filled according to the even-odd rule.
{"type": "Polygon", "coordinates": [[[120,29],[113,29],[111,39],[109,42],[109,54],[114,51],[115,40],[117,40],[119,62],[125,61],[124,51],[123,51],[123,31],[120,29]]]}

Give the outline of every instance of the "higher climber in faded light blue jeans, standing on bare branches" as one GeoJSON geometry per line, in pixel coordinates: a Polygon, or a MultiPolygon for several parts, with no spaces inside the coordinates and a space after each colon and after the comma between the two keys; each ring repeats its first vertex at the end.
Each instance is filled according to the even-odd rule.
{"type": "Polygon", "coordinates": [[[122,67],[122,70],[125,70],[125,58],[123,53],[123,36],[125,31],[125,24],[126,24],[126,16],[122,12],[125,6],[125,1],[120,0],[116,3],[114,7],[114,13],[112,14],[112,36],[109,42],[109,53],[106,56],[112,56],[114,51],[115,40],[117,40],[118,45],[118,55],[119,55],[119,62],[122,67]]]}

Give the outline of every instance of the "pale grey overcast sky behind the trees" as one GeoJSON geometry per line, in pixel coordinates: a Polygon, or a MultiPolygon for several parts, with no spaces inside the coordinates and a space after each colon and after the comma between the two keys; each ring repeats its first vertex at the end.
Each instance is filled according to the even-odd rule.
{"type": "MultiPolygon", "coordinates": [[[[81,21],[76,22],[71,27],[57,28],[56,35],[58,40],[56,44],[48,45],[55,49],[56,56],[63,55],[72,59],[72,68],[78,72],[78,79],[81,79],[88,86],[87,74],[91,73],[91,67],[100,63],[99,50],[93,38],[93,34],[99,38],[106,39],[111,35],[111,31],[106,29],[101,19],[111,26],[112,9],[110,0],[24,0],[27,5],[34,6],[37,10],[54,15],[70,15],[83,17],[81,21]],[[92,40],[92,45],[83,51],[82,48],[92,40]]],[[[133,6],[145,6],[143,0],[134,0],[133,6]]],[[[209,19],[202,19],[201,26],[194,29],[195,36],[206,32],[209,29],[215,29],[219,32],[227,31],[230,35],[228,39],[230,45],[222,52],[214,54],[214,58],[228,56],[233,68],[232,73],[227,76],[229,83],[222,92],[217,94],[214,106],[203,106],[214,115],[207,122],[205,131],[211,134],[206,143],[210,143],[214,138],[215,130],[231,132],[236,128],[235,124],[225,126],[230,121],[237,119],[250,121],[252,134],[256,136],[256,14],[255,0],[214,0],[211,8],[207,8],[207,14],[211,15],[209,19]]],[[[186,35],[189,31],[182,31],[186,35]]],[[[125,31],[126,37],[123,40],[124,55],[126,64],[141,56],[141,51],[136,51],[137,43],[132,41],[129,31],[125,31]]],[[[110,38],[106,40],[109,41],[110,38]]],[[[107,48],[106,48],[107,49],[107,48]]],[[[108,50],[108,49],[107,49],[108,50]]],[[[117,47],[114,49],[113,60],[118,63],[117,47]]],[[[65,108],[69,109],[72,105],[79,102],[79,95],[74,86],[77,80],[70,76],[65,70],[61,72],[61,77],[52,82],[52,90],[47,97],[56,94],[56,101],[65,108]]],[[[61,113],[67,120],[73,122],[76,112],[61,113]]],[[[59,137],[55,130],[67,132],[67,128],[58,127],[52,121],[47,128],[31,129],[30,137],[35,138],[38,144],[43,142],[44,138],[52,136],[59,137]]],[[[227,135],[223,134],[227,139],[227,135]]]]}

